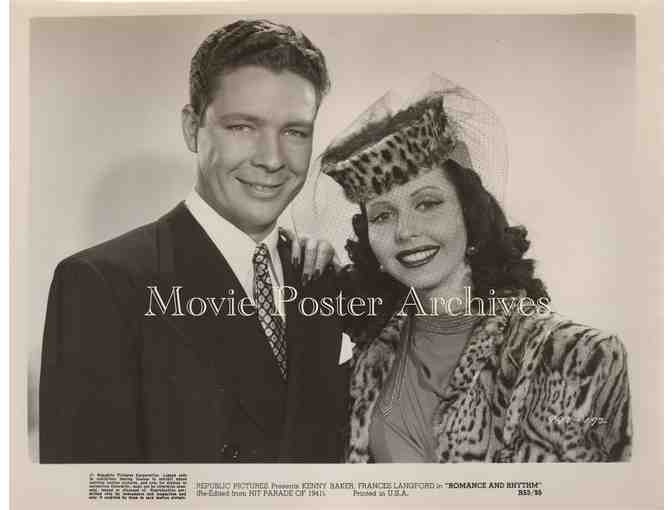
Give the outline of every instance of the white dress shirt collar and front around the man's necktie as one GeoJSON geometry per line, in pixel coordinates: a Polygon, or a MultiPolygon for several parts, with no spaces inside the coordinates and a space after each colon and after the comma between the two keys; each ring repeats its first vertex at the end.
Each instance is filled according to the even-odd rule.
{"type": "MultiPolygon", "coordinates": [[[[196,221],[203,227],[208,237],[215,243],[215,246],[217,246],[217,249],[226,259],[229,266],[231,266],[245,293],[250,299],[254,300],[254,266],[252,264],[252,257],[255,248],[261,243],[257,243],[233,223],[222,218],[201,198],[196,190],[192,190],[189,193],[184,204],[196,221]]],[[[278,253],[278,238],[279,232],[276,225],[262,243],[266,245],[271,256],[270,273],[271,283],[273,284],[273,301],[278,312],[284,318],[285,309],[283,303],[277,298],[278,290],[284,284],[282,262],[278,253]]]]}

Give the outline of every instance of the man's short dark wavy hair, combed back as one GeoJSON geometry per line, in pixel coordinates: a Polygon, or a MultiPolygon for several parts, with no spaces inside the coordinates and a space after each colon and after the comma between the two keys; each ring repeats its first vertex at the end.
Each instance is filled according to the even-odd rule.
{"type": "Polygon", "coordinates": [[[223,71],[258,65],[291,71],[315,87],[318,104],[330,82],[322,52],[305,35],[267,20],[239,20],[212,32],[191,59],[189,99],[202,116],[223,71]]]}

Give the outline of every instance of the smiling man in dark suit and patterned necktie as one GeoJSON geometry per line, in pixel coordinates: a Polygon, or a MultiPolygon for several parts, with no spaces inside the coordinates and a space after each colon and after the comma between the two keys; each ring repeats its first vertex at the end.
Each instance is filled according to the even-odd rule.
{"type": "Polygon", "coordinates": [[[283,286],[333,293],[328,276],[301,285],[276,225],[305,182],[327,88],[322,53],[290,27],[239,21],[205,39],[182,112],[194,191],[56,268],[41,462],[340,460],[338,318],[277,299],[283,286]]]}

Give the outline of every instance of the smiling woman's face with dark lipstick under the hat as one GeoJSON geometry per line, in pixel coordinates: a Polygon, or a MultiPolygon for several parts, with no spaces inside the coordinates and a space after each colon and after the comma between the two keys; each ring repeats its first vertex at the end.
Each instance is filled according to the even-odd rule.
{"type": "Polygon", "coordinates": [[[467,231],[455,187],[442,169],[370,200],[366,214],[371,248],[395,279],[431,294],[462,281],[467,231]]]}

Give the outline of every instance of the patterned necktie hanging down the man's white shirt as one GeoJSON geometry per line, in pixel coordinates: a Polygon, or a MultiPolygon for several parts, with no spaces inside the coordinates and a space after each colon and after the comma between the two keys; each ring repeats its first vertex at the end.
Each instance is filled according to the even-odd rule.
{"type": "Polygon", "coordinates": [[[282,378],[287,380],[287,342],[285,340],[285,324],[278,314],[273,302],[273,284],[269,271],[270,256],[265,244],[260,244],[254,250],[252,263],[254,265],[254,301],[257,303],[257,313],[261,329],[264,330],[268,343],[273,351],[273,357],[280,368],[282,378]]]}

